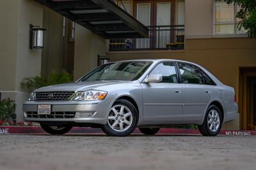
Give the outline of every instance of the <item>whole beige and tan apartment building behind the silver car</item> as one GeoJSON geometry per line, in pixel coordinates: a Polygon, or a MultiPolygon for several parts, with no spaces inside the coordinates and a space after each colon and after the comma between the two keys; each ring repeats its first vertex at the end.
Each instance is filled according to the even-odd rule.
{"type": "Polygon", "coordinates": [[[169,58],[198,63],[236,89],[240,116],[223,128],[256,128],[256,40],[237,29],[239,6],[214,0],[106,2],[0,2],[1,98],[19,103],[20,120],[21,103],[28,97],[20,89],[24,77],[56,70],[77,79],[97,66],[100,55],[110,61],[169,58]],[[47,29],[44,49],[28,48],[29,24],[47,29]]]}

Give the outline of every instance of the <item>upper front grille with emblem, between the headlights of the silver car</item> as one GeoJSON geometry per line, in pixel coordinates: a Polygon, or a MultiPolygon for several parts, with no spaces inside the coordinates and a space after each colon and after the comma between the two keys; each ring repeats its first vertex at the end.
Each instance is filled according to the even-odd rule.
{"type": "Polygon", "coordinates": [[[70,98],[74,93],[74,91],[36,92],[36,101],[65,101],[68,100],[68,98],[70,98]]]}

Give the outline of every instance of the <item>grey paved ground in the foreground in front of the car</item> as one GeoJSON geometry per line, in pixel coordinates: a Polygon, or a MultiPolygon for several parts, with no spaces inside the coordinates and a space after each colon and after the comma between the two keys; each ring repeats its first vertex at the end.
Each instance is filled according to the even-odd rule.
{"type": "Polygon", "coordinates": [[[256,136],[0,135],[0,169],[255,169],[256,136]]]}

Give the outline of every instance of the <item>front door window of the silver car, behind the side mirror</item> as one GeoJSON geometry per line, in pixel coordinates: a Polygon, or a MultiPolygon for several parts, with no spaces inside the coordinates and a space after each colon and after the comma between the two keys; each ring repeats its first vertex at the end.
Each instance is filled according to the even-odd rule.
{"type": "Polygon", "coordinates": [[[171,82],[171,83],[178,82],[174,63],[170,63],[170,62],[160,63],[150,73],[150,75],[153,75],[153,74],[161,74],[163,77],[163,81],[161,82],[171,82]]]}

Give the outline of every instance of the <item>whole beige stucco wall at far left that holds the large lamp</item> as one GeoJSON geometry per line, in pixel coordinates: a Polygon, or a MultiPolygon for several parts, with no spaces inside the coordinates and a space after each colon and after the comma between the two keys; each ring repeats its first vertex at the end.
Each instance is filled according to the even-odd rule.
{"type": "Polygon", "coordinates": [[[20,89],[24,77],[38,75],[42,50],[29,49],[29,24],[42,27],[42,6],[33,0],[0,1],[0,92],[17,103],[17,121],[29,94],[20,89]]]}

